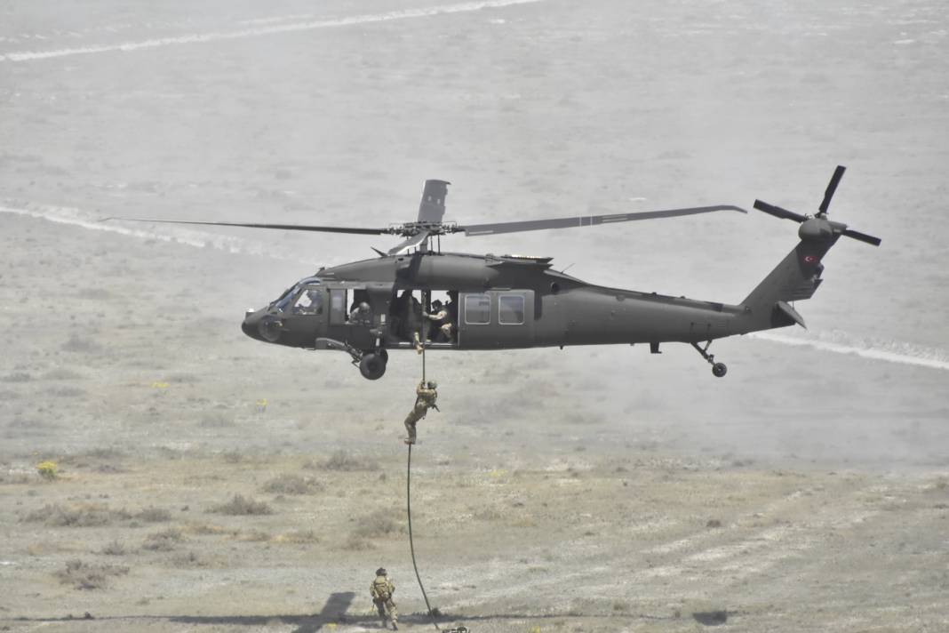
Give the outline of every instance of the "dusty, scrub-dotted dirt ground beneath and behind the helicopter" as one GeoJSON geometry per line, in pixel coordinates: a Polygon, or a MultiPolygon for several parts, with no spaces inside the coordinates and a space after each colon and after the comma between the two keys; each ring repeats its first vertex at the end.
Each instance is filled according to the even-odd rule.
{"type": "MultiPolygon", "coordinates": [[[[684,346],[432,354],[419,571],[474,633],[949,628],[945,9],[492,4],[0,9],[0,629],[374,630],[380,566],[433,628],[419,359],[366,382],[239,329],[384,239],[102,218],[384,226],[426,177],[459,220],[810,213],[838,163],[831,217],[884,244],[828,255],[804,345],[718,342],[720,381],[684,346]]],[[[795,231],[446,246],[734,302],[795,231]]]]}

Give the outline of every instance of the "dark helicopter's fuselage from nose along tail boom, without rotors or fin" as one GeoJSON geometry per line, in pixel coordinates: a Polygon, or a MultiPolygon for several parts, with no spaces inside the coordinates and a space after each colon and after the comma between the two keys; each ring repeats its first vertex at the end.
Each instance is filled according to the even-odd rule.
{"type": "Polygon", "coordinates": [[[454,299],[456,330],[430,349],[711,341],[740,333],[730,325],[744,310],[587,284],[551,270],[549,258],[417,251],[321,269],[249,311],[243,329],[309,349],[412,348],[413,332],[424,341],[429,327],[421,307],[439,290],[454,299]]]}

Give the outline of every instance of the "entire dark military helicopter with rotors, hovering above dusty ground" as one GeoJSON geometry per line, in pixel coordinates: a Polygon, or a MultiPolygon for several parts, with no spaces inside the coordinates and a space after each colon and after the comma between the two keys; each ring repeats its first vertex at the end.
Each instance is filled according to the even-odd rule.
{"type": "Polygon", "coordinates": [[[734,205],[459,225],[443,221],[451,183],[430,179],[424,183],[417,219],[386,228],[115,219],[400,236],[402,241],[388,251],[373,248],[378,255],[373,259],[317,270],[266,307],[248,309],[241,324],[244,333],[257,341],[343,351],[368,380],[385,373],[389,350],[649,344],[650,352],[658,354],[664,343],[691,344],[712,365],[713,375],[721,378],[728,368],[709,353],[713,341],[805,326],[791,302],[809,299],[821,285],[822,260],[837,240],[845,235],[880,246],[880,238],[828,219],[830,200],[845,169],[836,168],[819,211],[812,216],[754,201],[754,209],[799,223],[799,241],[735,305],[596,286],[553,270],[551,257],[441,251],[441,237],[453,233],[483,236],[723,211],[748,213],[734,205]],[[447,293],[447,306],[433,302],[433,292],[447,293]]]}

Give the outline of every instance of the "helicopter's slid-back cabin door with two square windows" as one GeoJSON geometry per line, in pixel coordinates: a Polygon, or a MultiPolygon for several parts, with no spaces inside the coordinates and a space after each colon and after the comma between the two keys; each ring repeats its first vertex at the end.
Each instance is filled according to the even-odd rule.
{"type": "Polygon", "coordinates": [[[534,339],[533,290],[461,292],[458,348],[529,347],[534,339]]]}

